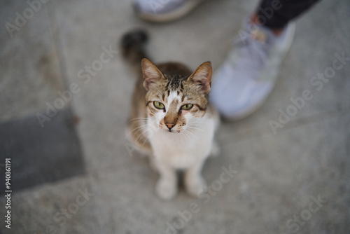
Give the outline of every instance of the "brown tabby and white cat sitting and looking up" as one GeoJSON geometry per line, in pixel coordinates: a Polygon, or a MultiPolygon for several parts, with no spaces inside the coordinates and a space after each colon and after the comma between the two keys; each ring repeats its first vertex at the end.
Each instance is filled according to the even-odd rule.
{"type": "Polygon", "coordinates": [[[184,172],[190,195],[205,191],[202,166],[218,153],[214,132],[218,113],[208,103],[212,67],[204,62],[194,72],[179,62],[156,66],[144,50],[148,36],[142,30],[125,34],[123,56],[137,72],[127,138],[149,156],[159,172],[155,192],[162,200],[178,193],[177,170],[184,172]]]}

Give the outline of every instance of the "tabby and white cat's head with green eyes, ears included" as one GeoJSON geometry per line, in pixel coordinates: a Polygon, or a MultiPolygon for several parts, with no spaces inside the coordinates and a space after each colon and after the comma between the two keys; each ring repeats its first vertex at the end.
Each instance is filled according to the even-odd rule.
{"type": "Polygon", "coordinates": [[[168,132],[183,132],[207,111],[212,68],[204,62],[190,76],[167,75],[142,60],[146,109],[151,123],[168,132]]]}

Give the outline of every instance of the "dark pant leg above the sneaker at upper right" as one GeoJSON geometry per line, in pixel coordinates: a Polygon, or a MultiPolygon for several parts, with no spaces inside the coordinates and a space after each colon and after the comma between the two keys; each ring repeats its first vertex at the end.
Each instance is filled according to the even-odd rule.
{"type": "Polygon", "coordinates": [[[258,20],[265,27],[281,29],[319,0],[262,0],[258,20]]]}

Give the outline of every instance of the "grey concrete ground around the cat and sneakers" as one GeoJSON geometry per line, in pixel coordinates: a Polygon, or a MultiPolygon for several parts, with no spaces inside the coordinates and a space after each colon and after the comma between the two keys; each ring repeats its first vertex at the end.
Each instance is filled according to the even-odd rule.
{"type": "Polygon", "coordinates": [[[141,27],[154,62],[217,69],[258,1],[207,1],[166,25],[137,19],[126,0],[37,3],[0,4],[0,233],[350,233],[350,61],[339,61],[350,57],[349,1],[323,0],[296,20],[272,95],[218,130],[221,156],[203,170],[211,193],[181,189],[171,202],[156,197],[158,175],[125,143],[132,71],[119,52],[100,56],[141,27]],[[225,182],[223,167],[234,170],[225,182]]]}

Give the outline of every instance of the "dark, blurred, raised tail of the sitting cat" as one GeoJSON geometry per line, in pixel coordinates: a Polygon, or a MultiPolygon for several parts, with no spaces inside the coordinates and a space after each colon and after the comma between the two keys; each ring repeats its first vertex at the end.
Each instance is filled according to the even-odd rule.
{"type": "Polygon", "coordinates": [[[141,73],[141,60],[147,57],[144,48],[147,41],[147,33],[142,29],[136,29],[127,32],[120,42],[123,57],[138,73],[141,73]]]}

